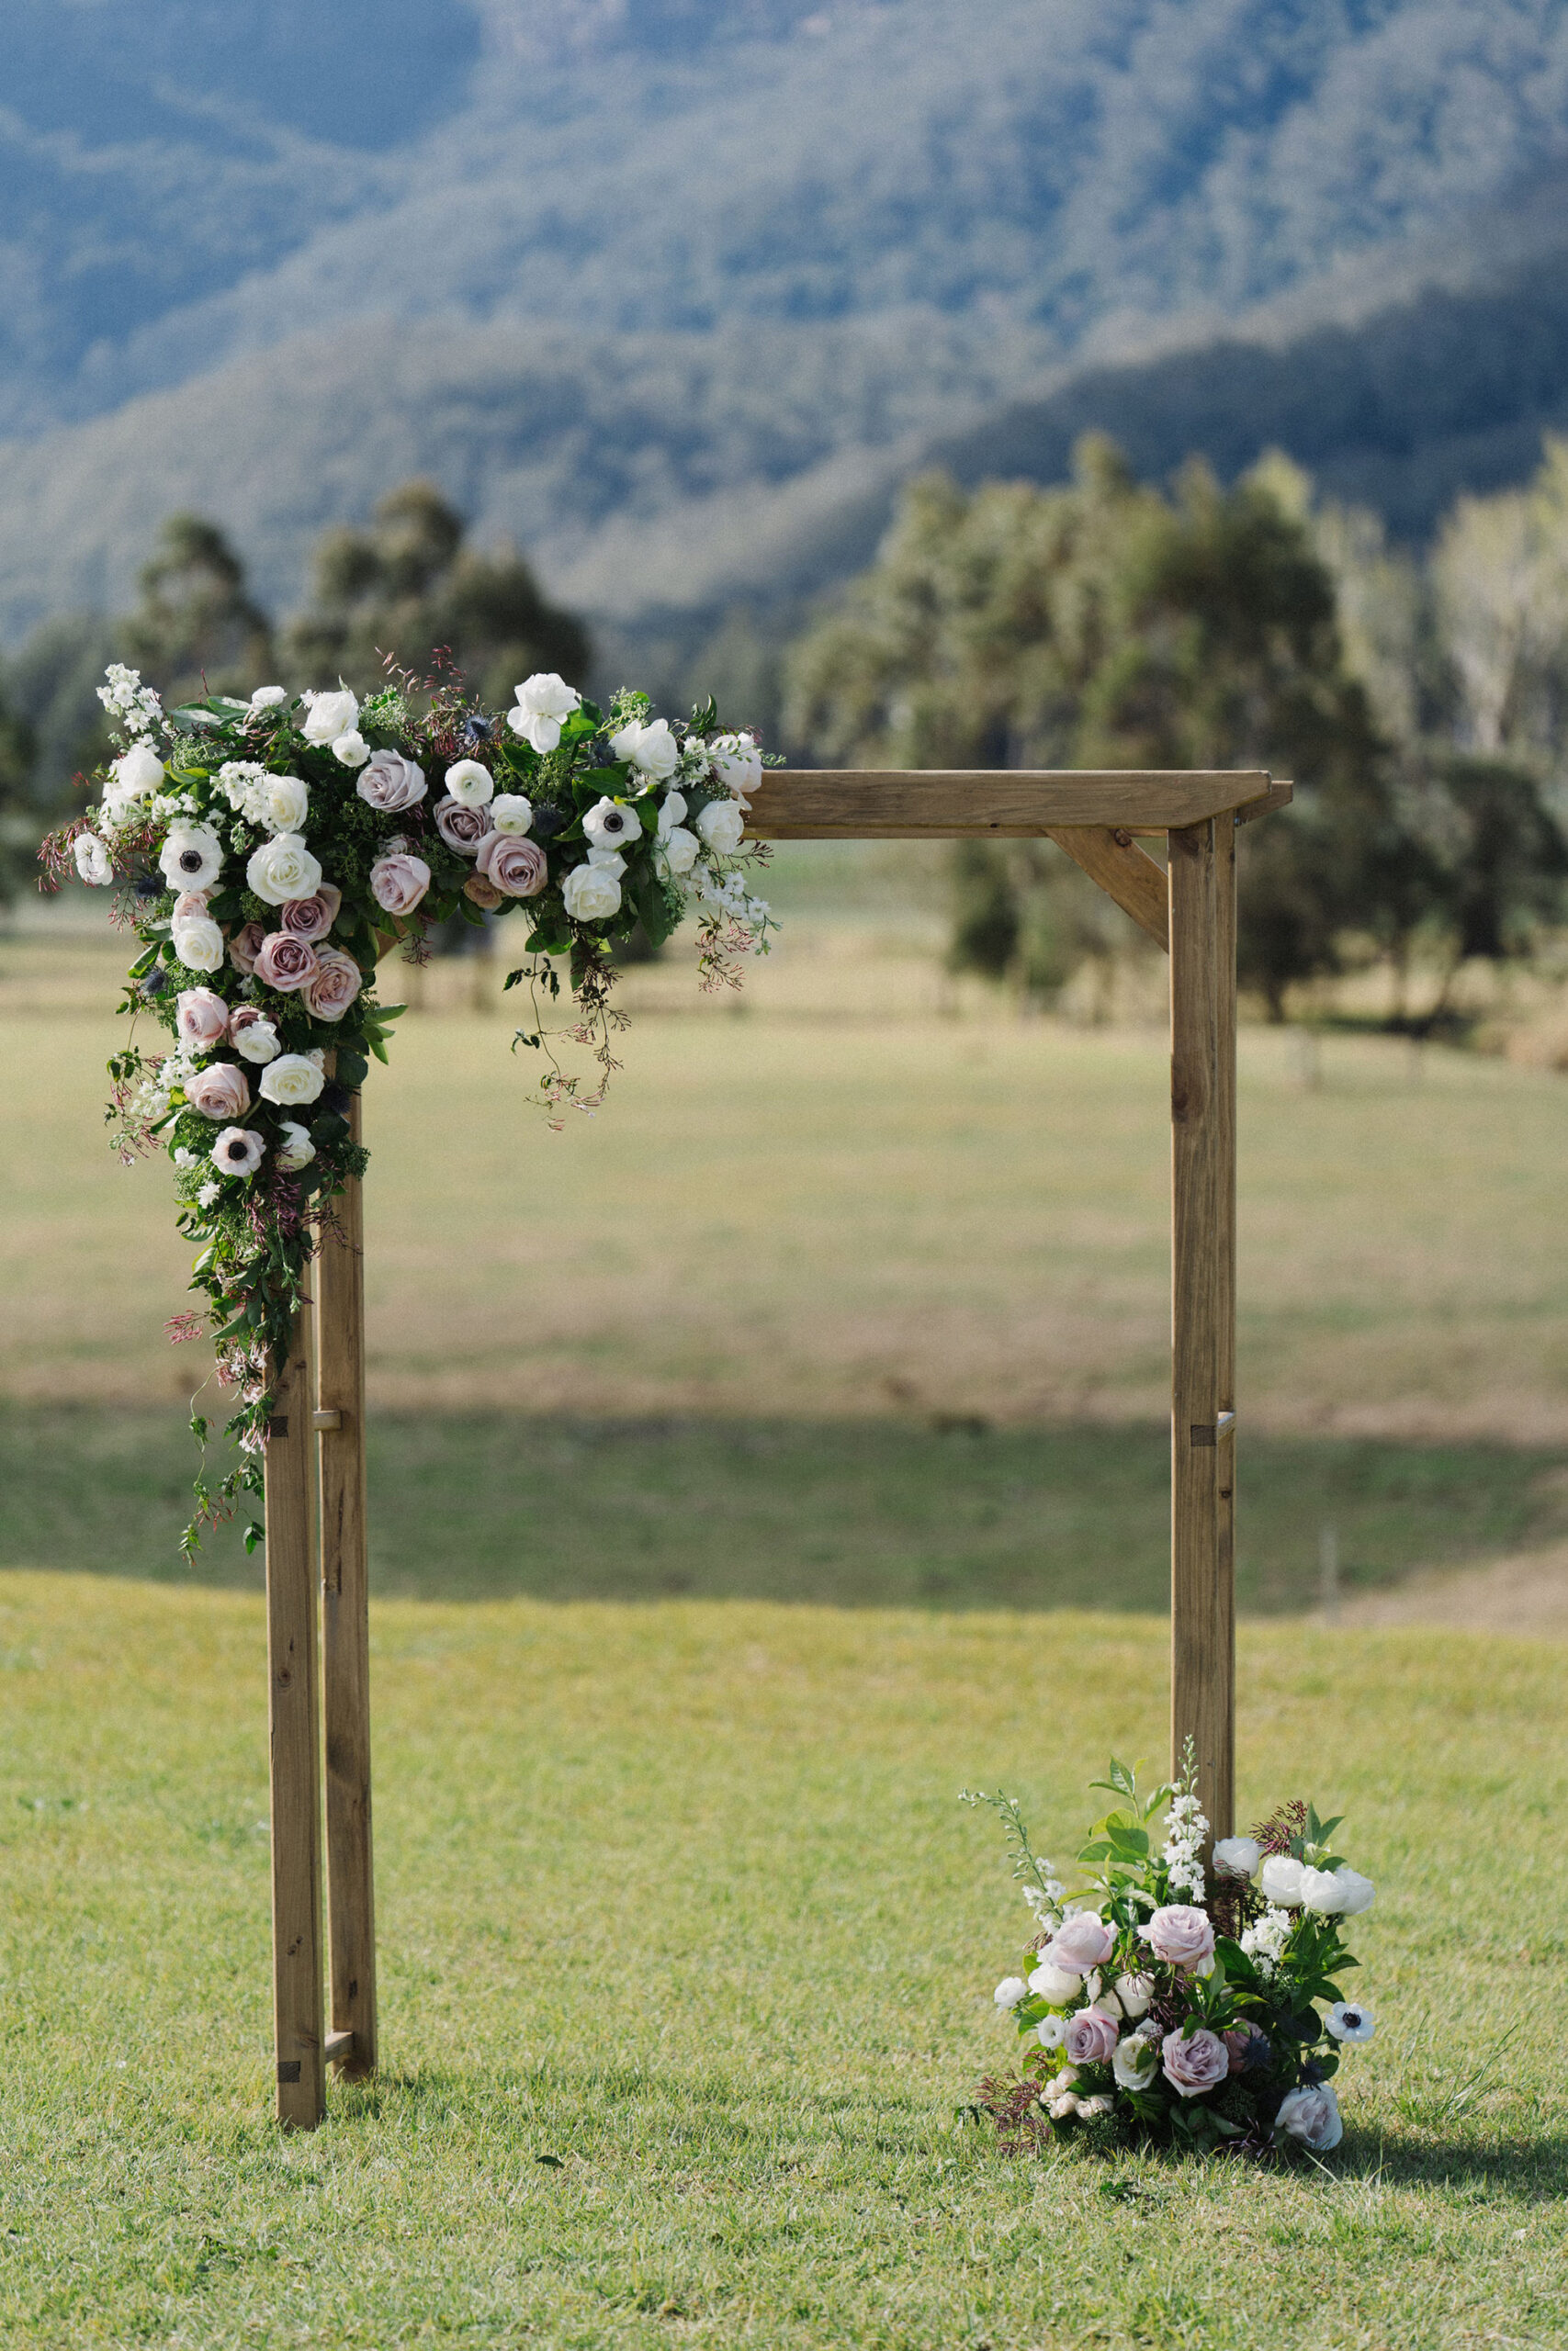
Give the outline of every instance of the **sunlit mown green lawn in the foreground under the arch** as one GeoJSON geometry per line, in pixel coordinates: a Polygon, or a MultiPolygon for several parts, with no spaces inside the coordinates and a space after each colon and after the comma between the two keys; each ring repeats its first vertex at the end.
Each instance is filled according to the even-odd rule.
{"type": "Polygon", "coordinates": [[[261,1603],[0,1580],[0,2339],[1568,2337],[1561,1650],[1244,1629],[1244,1808],[1380,1883],[1324,2170],[954,2128],[1048,1850],[1159,1756],[1152,1617],[383,1601],[386,2074],[268,2102],[261,1603]],[[550,2158],[550,2161],[545,2161],[550,2158]]]}

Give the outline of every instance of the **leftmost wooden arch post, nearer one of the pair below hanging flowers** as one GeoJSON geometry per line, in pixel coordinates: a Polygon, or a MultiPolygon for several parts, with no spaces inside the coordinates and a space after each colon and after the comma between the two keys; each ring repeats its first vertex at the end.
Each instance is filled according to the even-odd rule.
{"type": "Polygon", "coordinates": [[[292,2130],[315,2130],[327,2111],[313,1401],[310,1312],[301,1310],[277,1380],[266,1444],[273,2031],[277,2121],[292,2130]]]}

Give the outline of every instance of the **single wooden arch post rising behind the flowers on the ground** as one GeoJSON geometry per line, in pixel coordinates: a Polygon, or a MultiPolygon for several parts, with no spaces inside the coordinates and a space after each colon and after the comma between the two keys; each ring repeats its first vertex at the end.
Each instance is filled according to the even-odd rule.
{"type": "Polygon", "coordinates": [[[1234,1808],[1234,820],[1171,832],[1171,1756],[1234,1808]]]}

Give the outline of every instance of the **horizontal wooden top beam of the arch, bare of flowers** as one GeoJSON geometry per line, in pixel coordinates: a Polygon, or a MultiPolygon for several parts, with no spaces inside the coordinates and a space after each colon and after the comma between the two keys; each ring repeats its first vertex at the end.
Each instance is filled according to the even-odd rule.
{"type": "Polygon", "coordinates": [[[1262,769],[802,769],[752,790],[759,842],[1039,839],[1056,828],[1168,832],[1262,799],[1262,769]]]}

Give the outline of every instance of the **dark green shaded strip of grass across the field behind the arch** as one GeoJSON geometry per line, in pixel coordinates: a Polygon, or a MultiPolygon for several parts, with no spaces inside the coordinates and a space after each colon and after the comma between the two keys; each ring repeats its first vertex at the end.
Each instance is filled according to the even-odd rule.
{"type": "MultiPolygon", "coordinates": [[[[0,1566],[256,1589],[261,1556],[237,1528],[181,1561],[195,1462],[162,1408],[0,1408],[0,1566]]],[[[1552,1533],[1561,1465],[1479,1444],[1251,1436],[1239,1601],[1314,1606],[1324,1526],[1347,1589],[1552,1533]]],[[[1168,1439],[1147,1425],[386,1413],[369,1491],[383,1596],[931,1610],[1164,1610],[1168,1596],[1168,1439]]]]}

